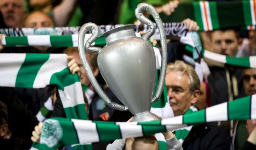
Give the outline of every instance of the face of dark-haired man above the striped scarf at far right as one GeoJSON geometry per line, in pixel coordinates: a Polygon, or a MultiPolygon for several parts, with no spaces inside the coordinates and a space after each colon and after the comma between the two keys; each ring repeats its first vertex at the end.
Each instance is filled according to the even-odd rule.
{"type": "Polygon", "coordinates": [[[234,30],[212,32],[212,52],[226,56],[236,56],[238,39],[234,30]]]}

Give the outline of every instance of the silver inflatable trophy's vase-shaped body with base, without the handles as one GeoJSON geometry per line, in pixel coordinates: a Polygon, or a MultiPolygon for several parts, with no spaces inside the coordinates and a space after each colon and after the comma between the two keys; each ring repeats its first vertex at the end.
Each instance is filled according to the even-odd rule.
{"type": "Polygon", "coordinates": [[[150,113],[156,84],[156,56],[153,47],[144,38],[137,37],[135,25],[109,30],[106,46],[98,54],[102,77],[134,115],[134,121],[159,118],[150,113]]]}

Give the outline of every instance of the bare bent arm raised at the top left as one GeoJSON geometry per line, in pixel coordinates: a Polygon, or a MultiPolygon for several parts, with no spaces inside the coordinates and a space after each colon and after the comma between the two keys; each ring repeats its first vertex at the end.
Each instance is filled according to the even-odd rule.
{"type": "Polygon", "coordinates": [[[53,16],[55,26],[66,26],[70,21],[76,8],[77,0],[62,0],[62,2],[54,7],[53,16]]]}

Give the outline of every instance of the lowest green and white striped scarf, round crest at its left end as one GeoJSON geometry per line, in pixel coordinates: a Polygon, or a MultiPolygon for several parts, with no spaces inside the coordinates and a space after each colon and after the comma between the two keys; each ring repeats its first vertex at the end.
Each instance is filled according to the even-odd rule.
{"type": "MultiPolygon", "coordinates": [[[[172,125],[177,124],[248,119],[256,119],[256,95],[225,102],[198,112],[152,122],[101,122],[52,118],[44,122],[40,143],[34,146],[40,150],[56,150],[61,145],[85,144],[166,132],[174,130],[175,127],[172,125]]],[[[189,128],[179,131],[180,134],[188,134],[189,128]]],[[[176,136],[179,132],[176,131],[176,136]]],[[[180,137],[179,139],[182,140],[185,138],[185,136],[180,137]]]]}

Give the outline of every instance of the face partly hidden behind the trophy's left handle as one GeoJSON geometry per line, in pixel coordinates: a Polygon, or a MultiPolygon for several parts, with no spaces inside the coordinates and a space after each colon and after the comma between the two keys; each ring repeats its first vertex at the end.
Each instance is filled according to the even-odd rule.
{"type": "MultiPolygon", "coordinates": [[[[76,60],[76,63],[78,64],[78,66],[80,67],[81,70],[81,76],[80,76],[80,80],[82,84],[85,84],[86,86],[90,86],[91,82],[90,79],[88,78],[86,71],[84,69],[84,66],[80,60],[80,56],[79,56],[79,52],[74,52],[72,54],[68,54],[68,56],[72,56],[74,58],[74,60],[76,60]]],[[[86,53],[86,59],[89,61],[90,60],[90,55],[89,53],[86,53]]]]}

